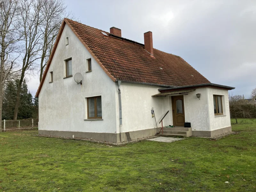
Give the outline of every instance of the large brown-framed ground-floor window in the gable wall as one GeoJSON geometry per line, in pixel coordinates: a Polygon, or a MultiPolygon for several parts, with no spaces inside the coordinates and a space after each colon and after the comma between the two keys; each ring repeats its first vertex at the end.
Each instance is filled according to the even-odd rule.
{"type": "Polygon", "coordinates": [[[87,118],[102,119],[101,96],[87,98],[87,118]]]}

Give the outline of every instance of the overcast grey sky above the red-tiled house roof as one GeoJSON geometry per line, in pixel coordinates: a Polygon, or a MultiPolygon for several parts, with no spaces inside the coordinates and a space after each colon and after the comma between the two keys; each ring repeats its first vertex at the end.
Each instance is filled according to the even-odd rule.
{"type": "MultiPolygon", "coordinates": [[[[144,44],[152,31],[153,46],[179,55],[211,83],[236,87],[248,98],[256,87],[256,1],[205,0],[66,0],[82,23],[144,44]]],[[[35,95],[38,77],[30,78],[35,95]]]]}

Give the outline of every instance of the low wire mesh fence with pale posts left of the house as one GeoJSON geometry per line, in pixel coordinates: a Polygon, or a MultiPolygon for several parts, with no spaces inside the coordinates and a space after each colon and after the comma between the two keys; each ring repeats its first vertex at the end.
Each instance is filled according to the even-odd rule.
{"type": "Polygon", "coordinates": [[[33,129],[38,127],[38,119],[3,120],[2,131],[33,129]]]}

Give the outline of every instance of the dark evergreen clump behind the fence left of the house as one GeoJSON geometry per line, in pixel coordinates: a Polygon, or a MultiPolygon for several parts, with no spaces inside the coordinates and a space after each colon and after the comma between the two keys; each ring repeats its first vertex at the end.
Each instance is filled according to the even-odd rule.
{"type": "MultiPolygon", "coordinates": [[[[8,82],[6,85],[4,91],[2,119],[13,119],[18,84],[19,80],[15,82],[8,82]]],[[[33,97],[28,91],[28,85],[24,80],[20,91],[20,106],[18,111],[18,119],[31,118],[32,113],[33,97]]]]}

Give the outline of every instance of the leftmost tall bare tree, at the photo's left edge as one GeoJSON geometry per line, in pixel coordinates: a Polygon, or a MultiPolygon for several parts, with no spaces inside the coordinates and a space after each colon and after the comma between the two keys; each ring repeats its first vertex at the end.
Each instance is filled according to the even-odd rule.
{"type": "MultiPolygon", "coordinates": [[[[0,46],[1,46],[1,67],[0,67],[0,119],[2,120],[2,106],[3,106],[3,82],[6,79],[6,75],[10,74],[12,66],[9,72],[4,76],[5,61],[8,59],[10,53],[16,52],[18,46],[17,42],[20,41],[21,36],[17,33],[19,29],[18,22],[19,6],[16,0],[1,0],[0,1],[0,46]]],[[[13,64],[13,62],[12,62],[13,64]]],[[[0,125],[1,131],[1,125],[0,125]]]]}

